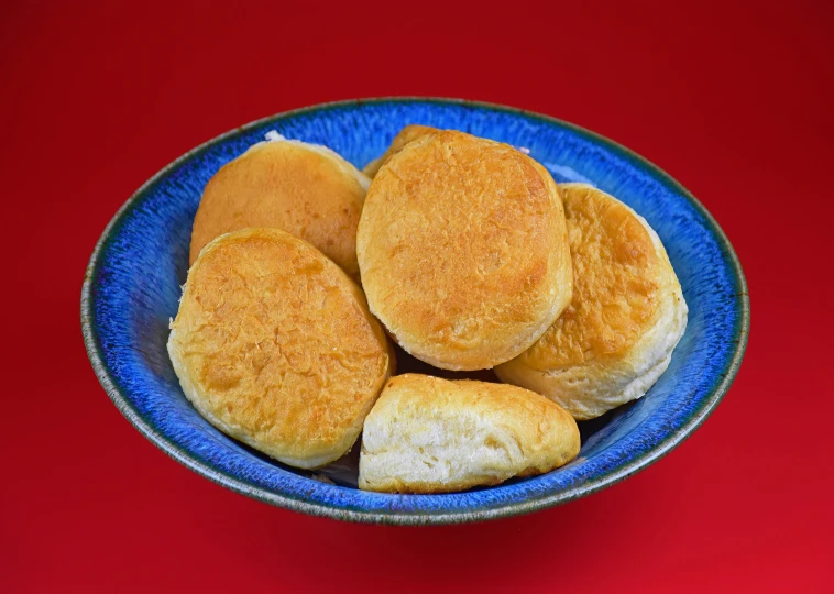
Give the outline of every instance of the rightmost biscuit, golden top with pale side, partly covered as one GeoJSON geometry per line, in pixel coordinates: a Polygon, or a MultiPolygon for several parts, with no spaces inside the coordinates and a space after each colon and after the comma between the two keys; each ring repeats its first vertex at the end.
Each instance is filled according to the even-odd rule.
{"type": "Polygon", "coordinates": [[[669,366],[688,309],[663,244],[643,217],[586,184],[559,189],[573,299],[533,348],[495,373],[583,420],[646,394],[669,366]]]}

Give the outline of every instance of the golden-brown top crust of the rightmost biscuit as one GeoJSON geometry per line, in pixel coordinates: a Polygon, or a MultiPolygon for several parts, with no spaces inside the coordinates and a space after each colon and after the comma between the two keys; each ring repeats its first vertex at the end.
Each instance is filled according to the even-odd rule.
{"type": "Polygon", "coordinates": [[[548,369],[623,356],[659,315],[666,266],[648,230],[622,202],[585,185],[563,185],[573,298],[522,358],[548,369]]]}

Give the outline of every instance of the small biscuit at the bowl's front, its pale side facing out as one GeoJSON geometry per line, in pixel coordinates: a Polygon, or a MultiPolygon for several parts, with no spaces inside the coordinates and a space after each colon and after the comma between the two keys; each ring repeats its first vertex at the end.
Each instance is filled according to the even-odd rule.
{"type": "Polygon", "coordinates": [[[579,453],[559,406],[515,386],[392,377],[365,419],[359,487],[445,493],[549,472],[579,453]]]}

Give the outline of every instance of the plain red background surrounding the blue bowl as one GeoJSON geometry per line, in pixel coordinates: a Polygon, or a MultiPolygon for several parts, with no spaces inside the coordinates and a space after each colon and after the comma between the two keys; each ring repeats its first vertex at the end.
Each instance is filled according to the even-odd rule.
{"type": "Polygon", "coordinates": [[[2,2],[0,591],[834,591],[834,4],[672,4],[2,2]],[[396,528],[235,495],[120,416],[78,301],[121,202],[228,129],[386,95],[575,122],[715,215],[753,331],[691,439],[561,507],[396,528]]]}

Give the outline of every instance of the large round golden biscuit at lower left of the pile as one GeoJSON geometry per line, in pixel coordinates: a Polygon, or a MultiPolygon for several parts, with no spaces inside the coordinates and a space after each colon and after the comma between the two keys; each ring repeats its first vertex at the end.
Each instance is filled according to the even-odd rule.
{"type": "Polygon", "coordinates": [[[394,365],[356,284],[309,243],[265,228],[200,252],[168,354],[211,425],[301,469],[350,450],[394,365]]]}

